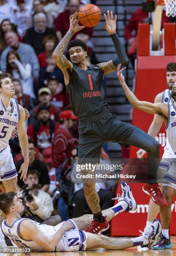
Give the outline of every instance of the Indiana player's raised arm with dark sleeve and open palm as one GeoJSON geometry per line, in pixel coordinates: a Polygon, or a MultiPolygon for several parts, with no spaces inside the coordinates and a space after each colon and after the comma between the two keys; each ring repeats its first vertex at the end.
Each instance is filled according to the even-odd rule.
{"type": "Polygon", "coordinates": [[[108,74],[110,72],[113,72],[117,69],[117,65],[122,63],[122,66],[125,66],[128,63],[128,57],[125,52],[124,47],[122,46],[122,43],[120,42],[120,38],[117,36],[116,33],[116,21],[117,21],[117,15],[115,15],[115,18],[113,18],[113,13],[107,11],[107,16],[104,14],[105,17],[105,29],[110,34],[110,37],[112,38],[112,41],[115,46],[115,51],[117,53],[117,58],[113,59],[111,61],[102,62],[97,64],[99,67],[101,67],[103,75],[108,74]]]}

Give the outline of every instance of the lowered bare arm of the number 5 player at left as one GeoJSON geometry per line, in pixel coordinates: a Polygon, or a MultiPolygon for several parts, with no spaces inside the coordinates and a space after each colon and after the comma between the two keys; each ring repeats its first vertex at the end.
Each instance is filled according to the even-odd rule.
{"type": "Polygon", "coordinates": [[[20,141],[20,147],[22,150],[24,163],[20,167],[20,171],[18,173],[21,173],[20,179],[23,179],[23,181],[26,179],[26,174],[28,171],[28,165],[29,165],[29,147],[28,147],[28,136],[26,133],[25,128],[25,111],[21,105],[19,105],[20,110],[20,120],[17,123],[17,129],[18,129],[18,138],[20,141]]]}

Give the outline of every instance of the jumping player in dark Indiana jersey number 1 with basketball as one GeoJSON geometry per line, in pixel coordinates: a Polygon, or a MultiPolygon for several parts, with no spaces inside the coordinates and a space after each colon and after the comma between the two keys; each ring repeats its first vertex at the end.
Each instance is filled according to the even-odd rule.
{"type": "MultiPolygon", "coordinates": [[[[120,62],[124,66],[128,62],[128,58],[116,33],[117,15],[114,19],[113,13],[107,11],[107,16],[104,14],[104,17],[105,29],[112,38],[118,58],[87,67],[87,45],[81,40],[69,42],[74,33],[84,28],[78,24],[78,13],[70,16],[69,31],[53,52],[57,66],[64,73],[70,102],[79,119],[79,164],[99,162],[102,144],[105,141],[143,148],[148,152],[148,158],[151,160],[148,184],[145,184],[144,189],[150,194],[152,194],[150,189],[155,191],[156,204],[166,206],[167,202],[156,183],[158,169],[158,160],[156,159],[159,159],[158,142],[139,128],[118,120],[114,114],[110,113],[109,105],[105,101],[103,77],[105,74],[115,71],[120,62]],[[71,61],[64,56],[67,44],[71,61]]],[[[83,189],[87,203],[94,215],[94,220],[86,231],[98,233],[100,230],[106,230],[109,228],[109,224],[105,216],[102,216],[95,181],[83,180],[83,189]]]]}

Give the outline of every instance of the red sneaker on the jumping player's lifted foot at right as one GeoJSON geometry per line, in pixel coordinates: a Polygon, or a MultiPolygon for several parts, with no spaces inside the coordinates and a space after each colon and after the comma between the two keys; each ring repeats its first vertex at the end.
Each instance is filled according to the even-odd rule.
{"type": "Polygon", "coordinates": [[[143,186],[143,192],[145,192],[147,195],[150,195],[153,202],[161,207],[166,207],[168,205],[166,199],[163,197],[160,186],[158,183],[154,184],[145,184],[143,186]]]}

